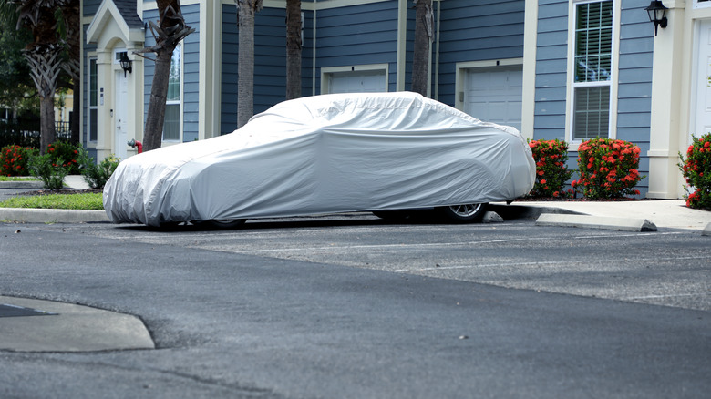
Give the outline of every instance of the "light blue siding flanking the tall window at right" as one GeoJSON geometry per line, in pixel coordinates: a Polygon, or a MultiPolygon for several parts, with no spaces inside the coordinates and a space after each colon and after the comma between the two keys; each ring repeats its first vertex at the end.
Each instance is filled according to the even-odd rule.
{"type": "MultiPolygon", "coordinates": [[[[623,0],[621,4],[620,46],[617,66],[617,138],[642,149],[640,172],[648,174],[649,124],[652,93],[652,52],[654,40],[644,7],[646,0],[623,0]]],[[[534,138],[565,139],[568,67],[568,2],[539,1],[536,53],[536,93],[534,138]]],[[[576,153],[571,159],[576,161],[576,153]]],[[[571,166],[576,169],[574,163],[571,166]]],[[[637,185],[642,195],[647,180],[637,185]]]]}

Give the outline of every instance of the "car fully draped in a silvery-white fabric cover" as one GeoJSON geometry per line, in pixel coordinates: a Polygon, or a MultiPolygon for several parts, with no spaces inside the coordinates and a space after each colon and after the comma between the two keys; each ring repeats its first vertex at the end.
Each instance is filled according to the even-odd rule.
{"type": "Polygon", "coordinates": [[[338,94],[125,159],[103,199],[115,223],[160,226],[513,200],[534,176],[515,128],[414,93],[338,94]]]}

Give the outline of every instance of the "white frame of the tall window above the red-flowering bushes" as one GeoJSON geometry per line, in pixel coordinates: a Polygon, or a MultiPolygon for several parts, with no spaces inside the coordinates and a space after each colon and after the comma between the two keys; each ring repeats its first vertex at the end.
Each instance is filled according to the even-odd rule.
{"type": "Polygon", "coordinates": [[[568,28],[568,112],[566,115],[566,138],[570,143],[570,149],[576,151],[578,145],[589,138],[575,138],[575,101],[576,101],[576,91],[580,88],[591,88],[591,87],[610,87],[610,99],[608,101],[608,126],[607,126],[607,136],[601,135],[602,138],[616,138],[616,123],[617,123],[617,81],[618,81],[618,63],[619,63],[619,26],[620,26],[620,3],[615,0],[572,0],[569,2],[569,28],[568,28]],[[578,6],[579,5],[589,5],[592,3],[603,3],[609,1],[612,3],[613,7],[613,23],[612,23],[612,43],[611,43],[611,59],[610,59],[610,79],[599,80],[592,82],[576,82],[576,26],[578,19],[578,6]]]}

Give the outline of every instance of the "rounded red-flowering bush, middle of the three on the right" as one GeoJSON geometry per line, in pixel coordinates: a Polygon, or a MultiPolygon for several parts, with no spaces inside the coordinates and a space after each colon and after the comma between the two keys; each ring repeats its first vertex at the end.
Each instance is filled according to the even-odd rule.
{"type": "Polygon", "coordinates": [[[640,148],[612,138],[593,138],[578,147],[580,179],[572,187],[590,199],[613,199],[625,195],[639,195],[634,186],[644,179],[640,176],[640,148]]]}

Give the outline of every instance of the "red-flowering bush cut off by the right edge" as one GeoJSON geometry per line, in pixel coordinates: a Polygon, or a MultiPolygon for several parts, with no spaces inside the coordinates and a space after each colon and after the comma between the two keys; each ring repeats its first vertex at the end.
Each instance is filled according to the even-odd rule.
{"type": "Polygon", "coordinates": [[[711,210],[711,133],[701,138],[692,137],[686,150],[686,160],[679,153],[679,168],[686,184],[694,189],[686,195],[686,206],[699,210],[711,210]]]}

